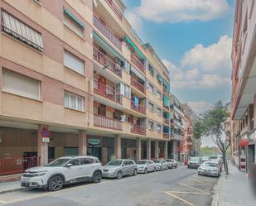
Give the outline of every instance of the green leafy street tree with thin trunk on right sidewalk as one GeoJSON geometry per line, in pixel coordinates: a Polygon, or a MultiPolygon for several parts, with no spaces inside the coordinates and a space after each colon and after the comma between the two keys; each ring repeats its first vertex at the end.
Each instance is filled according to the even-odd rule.
{"type": "MultiPolygon", "coordinates": [[[[226,151],[229,148],[229,145],[225,145],[224,134],[226,137],[230,137],[229,132],[225,131],[227,117],[229,117],[229,113],[221,101],[204,114],[204,135],[210,136],[215,145],[220,148],[224,162],[226,162],[226,151]]],[[[226,164],[225,171],[228,173],[226,164]]]]}

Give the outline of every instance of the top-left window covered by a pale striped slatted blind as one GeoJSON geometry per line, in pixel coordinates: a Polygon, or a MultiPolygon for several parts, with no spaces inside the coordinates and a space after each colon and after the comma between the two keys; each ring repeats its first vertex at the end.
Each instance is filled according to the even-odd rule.
{"type": "Polygon", "coordinates": [[[2,11],[2,31],[36,50],[43,50],[41,34],[23,22],[2,11]]]}

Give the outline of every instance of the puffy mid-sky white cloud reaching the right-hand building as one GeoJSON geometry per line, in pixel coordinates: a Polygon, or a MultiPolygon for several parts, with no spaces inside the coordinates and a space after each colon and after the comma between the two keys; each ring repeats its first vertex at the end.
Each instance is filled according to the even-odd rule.
{"type": "Polygon", "coordinates": [[[220,36],[220,40],[210,46],[196,45],[184,55],[183,66],[196,67],[202,70],[231,68],[232,39],[220,36]]]}

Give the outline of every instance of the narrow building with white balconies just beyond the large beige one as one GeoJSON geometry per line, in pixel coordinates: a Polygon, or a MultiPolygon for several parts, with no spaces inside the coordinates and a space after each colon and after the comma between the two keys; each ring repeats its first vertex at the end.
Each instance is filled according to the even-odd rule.
{"type": "MultiPolygon", "coordinates": [[[[185,141],[185,111],[181,101],[171,93],[171,141],[168,151],[171,158],[181,160],[183,141],[185,141]],[[181,144],[182,143],[182,144],[181,144]]],[[[184,156],[184,154],[182,155],[184,156]]],[[[183,157],[182,157],[183,158],[183,157]]],[[[183,158],[184,159],[184,158],[183,158]]]]}

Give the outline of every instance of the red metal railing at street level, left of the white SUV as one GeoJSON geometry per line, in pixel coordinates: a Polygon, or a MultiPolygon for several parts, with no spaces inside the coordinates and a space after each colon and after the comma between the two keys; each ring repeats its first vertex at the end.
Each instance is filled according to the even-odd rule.
{"type": "Polygon", "coordinates": [[[0,175],[22,173],[25,170],[39,166],[40,157],[8,157],[0,159],[0,175]]]}

